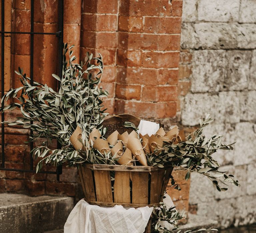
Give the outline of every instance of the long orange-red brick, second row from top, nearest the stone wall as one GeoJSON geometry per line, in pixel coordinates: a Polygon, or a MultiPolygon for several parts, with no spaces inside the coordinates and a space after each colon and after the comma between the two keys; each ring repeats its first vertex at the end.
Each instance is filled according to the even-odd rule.
{"type": "Polygon", "coordinates": [[[145,17],[144,32],[176,34],[181,32],[180,17],[145,17]]]}

